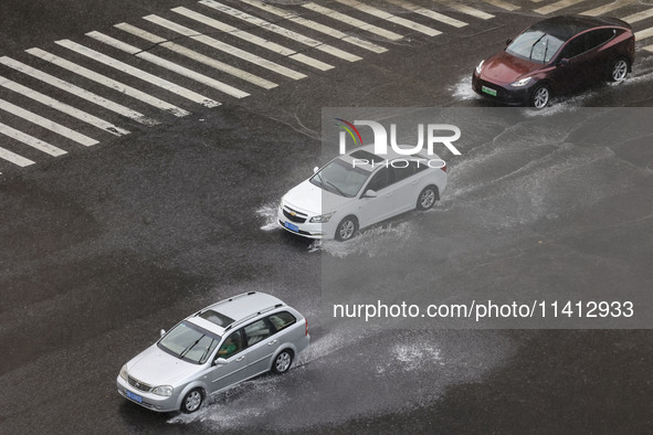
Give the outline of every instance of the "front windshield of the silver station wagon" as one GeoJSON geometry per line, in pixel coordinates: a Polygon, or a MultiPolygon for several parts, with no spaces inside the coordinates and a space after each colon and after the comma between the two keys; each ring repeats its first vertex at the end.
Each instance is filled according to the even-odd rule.
{"type": "Polygon", "coordinates": [[[192,323],[181,322],[172,328],[159,343],[159,349],[196,364],[207,362],[220,336],[209,333],[192,323]]]}

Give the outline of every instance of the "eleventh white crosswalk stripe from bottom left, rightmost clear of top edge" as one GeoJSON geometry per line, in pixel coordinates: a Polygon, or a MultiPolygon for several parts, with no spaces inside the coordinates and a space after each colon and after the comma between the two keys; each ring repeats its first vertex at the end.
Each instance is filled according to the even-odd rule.
{"type": "Polygon", "coordinates": [[[199,12],[191,11],[190,9],[175,8],[175,9],[172,9],[172,12],[177,12],[180,15],[196,20],[196,21],[198,21],[202,24],[206,24],[210,28],[229,33],[231,36],[240,38],[241,40],[244,40],[244,41],[247,41],[252,44],[262,46],[263,49],[270,50],[273,53],[276,53],[282,56],[301,62],[301,63],[312,66],[314,68],[317,68],[320,71],[327,71],[327,70],[331,70],[334,67],[333,65],[320,62],[320,61],[309,57],[305,54],[297,53],[294,50],[291,50],[291,49],[285,47],[283,45],[280,45],[280,44],[272,42],[270,40],[266,40],[264,38],[256,36],[255,34],[252,34],[250,32],[245,32],[244,30],[240,30],[238,28],[234,28],[233,25],[227,24],[222,21],[218,21],[218,20],[210,18],[210,17],[203,15],[199,12]]]}

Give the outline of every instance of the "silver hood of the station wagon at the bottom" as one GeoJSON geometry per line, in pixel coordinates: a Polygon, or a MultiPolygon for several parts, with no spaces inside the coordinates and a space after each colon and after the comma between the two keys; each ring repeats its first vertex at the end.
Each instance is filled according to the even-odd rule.
{"type": "Polygon", "coordinates": [[[152,344],[127,363],[129,376],[152,386],[172,385],[197,373],[201,365],[193,364],[162,351],[152,344]]]}

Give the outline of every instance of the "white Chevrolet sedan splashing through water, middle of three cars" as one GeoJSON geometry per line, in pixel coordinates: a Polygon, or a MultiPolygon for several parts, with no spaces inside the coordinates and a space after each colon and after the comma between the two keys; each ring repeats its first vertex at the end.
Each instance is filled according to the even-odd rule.
{"type": "Polygon", "coordinates": [[[309,238],[347,241],[366,226],[407,211],[428,210],[446,187],[438,156],[375,155],[373,146],[338,156],[281,200],[278,224],[309,238]]]}

